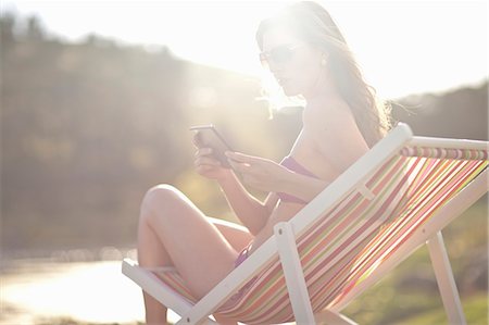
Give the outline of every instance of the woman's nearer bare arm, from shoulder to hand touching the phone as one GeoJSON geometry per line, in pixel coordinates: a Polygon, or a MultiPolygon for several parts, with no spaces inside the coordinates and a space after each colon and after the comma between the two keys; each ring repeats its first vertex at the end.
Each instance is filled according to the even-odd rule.
{"type": "MultiPolygon", "coordinates": [[[[337,175],[368,151],[348,104],[339,101],[318,108],[309,108],[312,114],[304,118],[304,130],[321,155],[337,175]]],[[[314,199],[329,182],[287,170],[269,160],[227,152],[231,165],[242,175],[244,184],[271,192],[287,192],[306,202],[314,199]]]]}

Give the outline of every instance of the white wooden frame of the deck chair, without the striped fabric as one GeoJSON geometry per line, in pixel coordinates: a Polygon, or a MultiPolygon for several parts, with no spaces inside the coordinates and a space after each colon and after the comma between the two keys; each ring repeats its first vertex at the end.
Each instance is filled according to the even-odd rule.
{"type": "Polygon", "coordinates": [[[421,229],[417,229],[392,258],[381,263],[367,279],[348,292],[339,304],[318,314],[314,314],[311,308],[296,246],[296,234],[300,234],[316,217],[327,212],[330,207],[335,207],[352,189],[362,191],[363,179],[406,145],[452,149],[488,149],[488,142],[486,141],[413,137],[408,125],[399,124],[385,139],[324,189],[294,217],[289,222],[275,225],[274,235],[195,305],[164,285],[154,274],[139,267],[137,263],[130,260],[124,260],[122,271],[146,292],[180,315],[181,318],[177,324],[215,324],[209,316],[258,274],[278,252],[298,324],[355,324],[341,315],[341,310],[426,242],[449,322],[450,324],[466,324],[441,229],[488,191],[487,168],[440,209],[436,215],[430,217],[421,229]]]}

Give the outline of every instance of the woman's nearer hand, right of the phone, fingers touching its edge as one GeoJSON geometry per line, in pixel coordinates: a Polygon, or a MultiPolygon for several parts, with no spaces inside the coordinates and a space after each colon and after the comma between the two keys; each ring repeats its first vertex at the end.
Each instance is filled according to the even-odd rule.
{"type": "Polygon", "coordinates": [[[247,155],[239,152],[226,152],[233,170],[241,174],[242,182],[255,189],[281,191],[290,171],[268,159],[247,155]]]}

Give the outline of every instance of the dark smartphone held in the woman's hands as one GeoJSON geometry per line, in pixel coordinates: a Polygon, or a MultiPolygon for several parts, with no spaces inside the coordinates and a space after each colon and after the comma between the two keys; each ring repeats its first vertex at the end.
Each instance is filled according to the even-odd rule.
{"type": "Polygon", "coordinates": [[[197,147],[212,148],[212,155],[221,162],[221,165],[225,168],[230,168],[230,164],[227,157],[224,154],[226,151],[234,151],[224,137],[215,129],[214,125],[197,125],[190,127],[190,130],[197,133],[197,147]]]}

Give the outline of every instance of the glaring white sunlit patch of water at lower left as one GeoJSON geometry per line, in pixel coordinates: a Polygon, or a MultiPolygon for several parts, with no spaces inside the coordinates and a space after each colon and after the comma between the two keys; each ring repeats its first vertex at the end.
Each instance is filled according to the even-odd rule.
{"type": "Polygon", "coordinates": [[[63,272],[42,272],[22,284],[10,284],[9,278],[2,283],[4,302],[22,305],[39,317],[65,315],[108,323],[143,318],[142,295],[122,275],[118,261],[86,266],[71,263],[63,272]]]}

